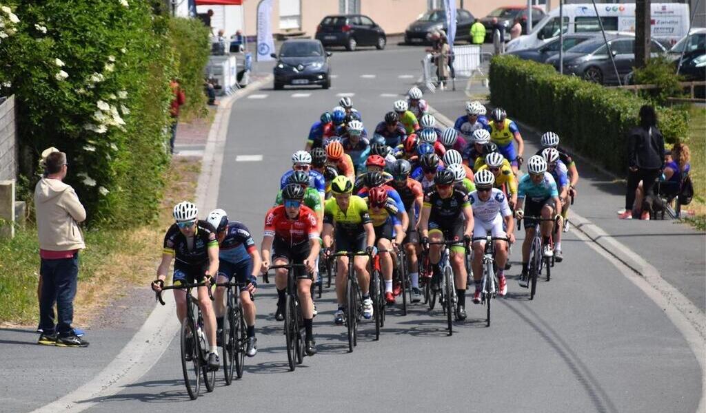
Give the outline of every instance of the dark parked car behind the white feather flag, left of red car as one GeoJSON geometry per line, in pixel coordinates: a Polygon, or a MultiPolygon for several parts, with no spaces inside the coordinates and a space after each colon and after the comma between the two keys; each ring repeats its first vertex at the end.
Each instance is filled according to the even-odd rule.
{"type": "MultiPolygon", "coordinates": [[[[471,25],[474,23],[473,15],[463,8],[456,9],[456,38],[455,40],[471,41],[471,25]]],[[[448,33],[446,26],[446,12],[443,8],[427,11],[405,30],[405,44],[429,44],[431,32],[443,29],[448,33]]]]}

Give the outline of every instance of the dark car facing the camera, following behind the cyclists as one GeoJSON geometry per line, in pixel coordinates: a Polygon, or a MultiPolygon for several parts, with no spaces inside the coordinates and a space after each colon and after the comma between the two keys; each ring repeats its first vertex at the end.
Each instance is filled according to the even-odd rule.
{"type": "Polygon", "coordinates": [[[331,87],[331,68],[328,58],[329,51],[323,49],[318,40],[289,39],[282,43],[280,55],[273,69],[275,75],[275,90],[285,85],[321,85],[324,89],[331,87]]]}

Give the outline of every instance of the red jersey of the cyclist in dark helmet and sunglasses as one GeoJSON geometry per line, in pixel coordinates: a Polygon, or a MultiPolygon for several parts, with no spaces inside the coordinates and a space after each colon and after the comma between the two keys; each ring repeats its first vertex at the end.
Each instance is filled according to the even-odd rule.
{"type": "Polygon", "coordinates": [[[265,215],[265,237],[280,238],[289,245],[299,245],[302,242],[318,238],[316,213],[308,206],[301,206],[299,216],[289,219],[284,205],[275,206],[265,215]]]}

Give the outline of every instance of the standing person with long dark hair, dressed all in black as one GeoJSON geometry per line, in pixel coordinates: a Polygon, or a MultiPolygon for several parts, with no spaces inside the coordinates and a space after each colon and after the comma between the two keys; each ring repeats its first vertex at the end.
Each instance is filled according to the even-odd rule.
{"type": "Polygon", "coordinates": [[[635,190],[640,181],[645,190],[646,208],[642,209],[641,219],[650,218],[654,181],[664,167],[664,137],[657,129],[657,112],[649,105],[640,108],[640,125],[628,132],[628,187],[625,196],[625,211],[618,214],[620,219],[633,218],[635,190]]]}

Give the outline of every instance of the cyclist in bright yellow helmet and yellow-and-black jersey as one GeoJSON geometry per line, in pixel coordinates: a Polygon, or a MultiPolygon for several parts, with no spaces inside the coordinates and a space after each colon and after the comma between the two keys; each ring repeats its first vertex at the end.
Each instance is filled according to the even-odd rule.
{"type": "MultiPolygon", "coordinates": [[[[336,252],[366,251],[375,254],[375,230],[368,212],[368,204],[357,195],[352,195],[353,183],[345,176],[337,176],[331,182],[333,197],[324,206],[323,246],[326,251],[333,245],[335,228],[336,252]]],[[[368,257],[358,256],[353,259],[361,292],[363,293],[363,316],[373,316],[373,300],[370,299],[370,273],[368,257]]],[[[344,321],[345,289],[348,277],[348,257],[336,258],[336,298],[338,309],[334,322],[341,325],[344,321]]]]}

